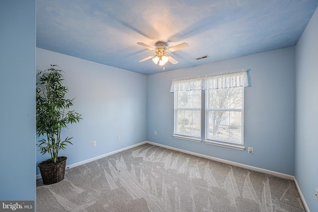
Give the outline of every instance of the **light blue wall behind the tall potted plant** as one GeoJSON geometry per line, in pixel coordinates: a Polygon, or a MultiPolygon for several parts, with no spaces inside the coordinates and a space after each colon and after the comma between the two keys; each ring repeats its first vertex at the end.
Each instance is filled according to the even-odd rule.
{"type": "MultiPolygon", "coordinates": [[[[68,157],[67,164],[146,141],[146,75],[37,48],[37,70],[50,64],[65,72],[68,97],[77,97],[73,109],[83,118],[65,130],[65,136],[74,137],[74,145],[60,153],[68,157]]],[[[37,163],[47,158],[37,151],[37,163]]]]}

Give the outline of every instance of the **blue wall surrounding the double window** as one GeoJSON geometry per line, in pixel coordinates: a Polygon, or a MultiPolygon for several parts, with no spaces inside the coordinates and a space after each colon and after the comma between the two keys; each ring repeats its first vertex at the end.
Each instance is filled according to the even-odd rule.
{"type": "Polygon", "coordinates": [[[295,48],[290,47],[148,75],[148,141],[294,175],[294,61],[295,48]],[[174,139],[171,80],[239,69],[250,69],[251,87],[244,88],[244,144],[253,147],[254,154],[174,139]]]}

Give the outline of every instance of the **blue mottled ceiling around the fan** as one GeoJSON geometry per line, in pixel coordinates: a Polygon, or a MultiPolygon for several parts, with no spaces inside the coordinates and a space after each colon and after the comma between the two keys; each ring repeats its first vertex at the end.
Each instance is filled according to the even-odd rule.
{"type": "Polygon", "coordinates": [[[318,0],[37,0],[37,47],[152,74],[163,67],[139,63],[153,52],[137,42],[188,43],[169,53],[179,63],[164,71],[193,67],[294,46],[317,6],[318,0]]]}

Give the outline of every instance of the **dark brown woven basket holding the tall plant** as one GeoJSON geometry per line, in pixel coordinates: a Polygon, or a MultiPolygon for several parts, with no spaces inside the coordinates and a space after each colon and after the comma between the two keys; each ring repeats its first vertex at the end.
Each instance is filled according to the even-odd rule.
{"type": "Polygon", "coordinates": [[[50,185],[60,182],[64,179],[65,166],[67,157],[58,157],[57,163],[53,163],[52,159],[47,159],[38,164],[40,168],[43,184],[50,185]]]}

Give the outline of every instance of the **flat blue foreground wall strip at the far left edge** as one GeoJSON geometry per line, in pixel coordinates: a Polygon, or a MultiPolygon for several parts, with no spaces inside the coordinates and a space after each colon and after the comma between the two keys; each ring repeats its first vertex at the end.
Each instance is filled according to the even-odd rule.
{"type": "Polygon", "coordinates": [[[0,1],[0,200],[35,201],[35,0],[0,1]]]}

